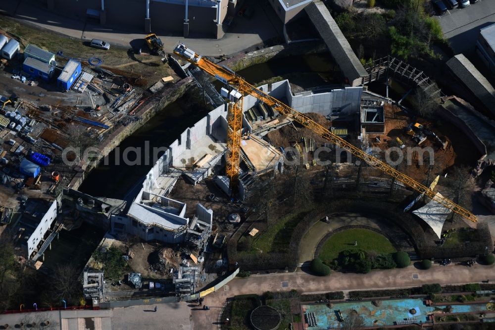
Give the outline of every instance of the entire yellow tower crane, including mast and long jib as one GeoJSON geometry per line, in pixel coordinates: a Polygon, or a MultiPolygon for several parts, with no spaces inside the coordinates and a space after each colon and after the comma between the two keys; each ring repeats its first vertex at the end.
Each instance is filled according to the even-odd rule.
{"type": "Polygon", "coordinates": [[[259,90],[255,86],[249,84],[242,77],[238,76],[234,71],[226,66],[220,66],[209,59],[197,54],[195,51],[186,47],[185,44],[179,43],[174,48],[174,54],[187,60],[193,65],[198,66],[204,72],[215,77],[217,80],[223,82],[229,90],[226,88],[221,89],[223,97],[231,101],[229,103],[229,109],[227,112],[227,159],[226,159],[226,174],[230,179],[230,189],[235,191],[238,188],[238,176],[239,176],[239,164],[240,164],[240,149],[241,149],[241,128],[242,128],[242,115],[243,115],[243,97],[251,95],[259,101],[277,110],[281,115],[285,115],[293,121],[307,127],[315,134],[318,134],[322,138],[332,142],[336,146],[346,149],[355,157],[363,160],[368,165],[380,169],[381,171],[389,174],[396,180],[404,183],[415,191],[425,194],[437,203],[442,204],[446,208],[452,210],[454,213],[471,220],[473,222],[478,221],[478,218],[464,209],[463,207],[455,204],[451,200],[437,194],[425,185],[417,182],[411,177],[399,172],[394,167],[380,161],[379,159],[369,155],[365,151],[355,147],[351,143],[347,142],[343,138],[333,134],[329,129],[316,123],[308,116],[292,109],[279,100],[271,97],[265,92],[259,90]]]}

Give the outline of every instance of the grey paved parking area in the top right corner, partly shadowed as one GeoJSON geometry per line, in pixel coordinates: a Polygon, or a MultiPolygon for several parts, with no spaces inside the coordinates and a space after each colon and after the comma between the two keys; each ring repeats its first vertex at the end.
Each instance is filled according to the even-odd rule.
{"type": "Polygon", "coordinates": [[[495,23],[495,1],[480,0],[466,8],[449,10],[436,18],[455,54],[471,52],[480,29],[495,23]]]}

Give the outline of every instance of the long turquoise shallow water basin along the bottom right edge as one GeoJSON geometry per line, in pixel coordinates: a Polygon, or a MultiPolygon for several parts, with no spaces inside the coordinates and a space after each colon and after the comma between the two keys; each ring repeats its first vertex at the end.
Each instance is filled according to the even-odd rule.
{"type": "MultiPolygon", "coordinates": [[[[446,306],[437,306],[443,309],[446,306]]],[[[317,326],[310,330],[339,329],[339,310],[342,317],[355,310],[364,319],[364,326],[390,326],[404,323],[407,320],[426,322],[427,316],[435,311],[435,306],[426,306],[424,299],[395,299],[381,300],[381,306],[376,307],[371,301],[353,301],[333,304],[329,308],[326,304],[304,305],[306,313],[314,313],[317,326]],[[411,315],[409,310],[415,309],[416,313],[411,315]]],[[[452,305],[452,313],[466,313],[486,310],[486,304],[452,305]]]]}

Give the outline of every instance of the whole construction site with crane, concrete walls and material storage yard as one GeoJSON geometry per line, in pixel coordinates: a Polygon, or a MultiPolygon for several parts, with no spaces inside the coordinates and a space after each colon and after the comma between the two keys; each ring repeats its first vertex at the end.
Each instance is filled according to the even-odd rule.
{"type": "MultiPolygon", "coordinates": [[[[329,21],[315,6],[308,15],[329,21]]],[[[329,49],[336,43],[323,39],[329,49]]],[[[180,42],[166,55],[156,35],[143,40],[143,54],[129,50],[152,63],[140,73],[126,69],[131,62],[106,66],[103,53],[86,60],[31,40],[2,59],[0,234],[12,234],[29,272],[53,276],[77,264],[81,306],[202,301],[240,274],[313,275],[317,258],[348,271],[339,258],[346,245],[361,248],[361,237],[325,255],[346,230],[389,242],[370,259],[405,252],[466,263],[493,251],[495,124],[425,72],[391,56],[363,66],[352,52],[333,53],[343,84],[254,86],[225,56],[180,42]],[[388,97],[391,81],[406,91],[400,100],[388,97]],[[184,130],[143,177],[125,182],[119,198],[78,191],[177,99],[200,119],[177,124],[184,130]]]]}

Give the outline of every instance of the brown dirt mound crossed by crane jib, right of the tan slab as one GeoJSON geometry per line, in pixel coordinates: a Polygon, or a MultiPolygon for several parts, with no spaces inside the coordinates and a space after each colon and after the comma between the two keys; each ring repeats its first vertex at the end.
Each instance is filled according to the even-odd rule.
{"type": "MultiPolygon", "coordinates": [[[[331,122],[325,116],[318,113],[306,113],[306,116],[316,121],[323,127],[329,127],[331,122]]],[[[289,147],[294,146],[296,142],[300,142],[303,137],[306,139],[314,139],[315,147],[321,147],[328,141],[319,135],[315,134],[310,129],[294,122],[293,125],[286,125],[280,129],[268,132],[268,140],[276,146],[289,147]],[[294,128],[294,126],[296,128],[294,128]]]]}

